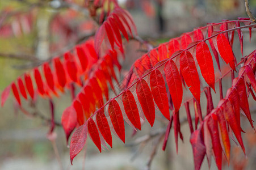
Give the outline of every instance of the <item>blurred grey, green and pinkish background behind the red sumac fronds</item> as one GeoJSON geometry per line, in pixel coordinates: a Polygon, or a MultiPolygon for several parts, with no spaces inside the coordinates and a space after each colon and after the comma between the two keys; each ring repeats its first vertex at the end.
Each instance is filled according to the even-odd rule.
{"type": "MultiPolygon", "coordinates": [[[[84,0],[39,1],[39,0],[0,0],[0,93],[13,80],[25,71],[38,66],[41,60],[58,56],[79,44],[87,37],[94,35],[97,25],[90,12],[84,6],[84,0]]],[[[249,1],[250,8],[256,16],[256,1],[249,1]]],[[[153,46],[168,41],[183,32],[192,31],[207,23],[221,22],[222,19],[233,20],[247,18],[242,0],[120,0],[138,29],[139,36],[153,46]]],[[[249,42],[249,31],[244,30],[245,55],[256,46],[255,29],[249,42]]],[[[132,40],[125,44],[125,61],[123,73],[127,73],[132,63],[143,54],[140,43],[132,40]]],[[[235,35],[234,52],[241,58],[239,41],[235,35]]],[[[230,87],[229,83],[224,88],[230,87]]],[[[225,82],[225,80],[223,80],[225,82]]],[[[114,95],[114,94],[112,94],[114,95]]],[[[213,95],[218,97],[216,95],[213,95]]],[[[219,98],[219,97],[218,97],[219,98]]],[[[72,99],[66,91],[60,97],[54,97],[55,119],[61,120],[61,114],[72,99]]],[[[250,100],[251,96],[250,96],[250,100]]],[[[0,169],[145,169],[152,148],[159,141],[154,134],[161,133],[166,126],[156,122],[153,128],[148,124],[142,127],[135,136],[132,128],[127,127],[127,144],[114,137],[114,147],[99,153],[95,145],[87,140],[87,152],[84,150],[70,165],[69,148],[66,146],[65,134],[60,126],[55,129],[56,140],[51,142],[47,137],[49,124],[39,117],[26,116],[13,104],[10,95],[4,107],[0,108],[0,169]],[[159,132],[160,131],[160,132],[159,132]],[[148,142],[136,145],[136,139],[152,136],[148,142]],[[56,156],[56,150],[58,152],[56,156]],[[86,159],[85,158],[86,153],[86,159]]],[[[251,113],[256,120],[255,103],[251,102],[251,113]]],[[[23,101],[29,111],[31,103],[23,101]]],[[[217,103],[215,103],[215,106],[217,103]]],[[[49,101],[37,99],[36,106],[40,113],[49,118],[49,101]]],[[[31,110],[32,111],[32,110],[31,110]]],[[[205,108],[203,108],[205,111],[205,108]]],[[[181,111],[181,120],[186,113],[181,111]]],[[[256,135],[251,130],[245,117],[241,118],[246,131],[243,139],[246,145],[247,158],[241,148],[232,143],[230,167],[223,160],[224,169],[255,169],[256,135]]],[[[181,131],[184,143],[179,141],[178,155],[175,152],[173,129],[171,129],[166,151],[161,150],[162,143],[156,149],[152,169],[192,169],[192,147],[189,142],[188,125],[182,124],[181,131]]],[[[208,169],[206,158],[202,169],[208,169]]],[[[212,159],[212,169],[216,169],[212,159]]]]}

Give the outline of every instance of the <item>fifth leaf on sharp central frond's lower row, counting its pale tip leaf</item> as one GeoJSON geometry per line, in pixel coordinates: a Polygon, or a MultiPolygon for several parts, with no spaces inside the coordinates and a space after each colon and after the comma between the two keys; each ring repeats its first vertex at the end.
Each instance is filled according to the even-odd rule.
{"type": "Polygon", "coordinates": [[[141,130],[140,114],[132,92],[129,90],[124,91],[122,100],[124,104],[124,111],[132,125],[141,130]]]}

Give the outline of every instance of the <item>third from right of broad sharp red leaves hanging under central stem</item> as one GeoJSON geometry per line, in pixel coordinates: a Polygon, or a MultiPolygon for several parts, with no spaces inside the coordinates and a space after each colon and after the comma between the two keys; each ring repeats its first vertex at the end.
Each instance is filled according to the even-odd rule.
{"type": "Polygon", "coordinates": [[[192,95],[200,103],[200,80],[198,71],[196,70],[195,61],[190,52],[185,50],[181,53],[179,59],[181,65],[181,72],[187,87],[190,89],[192,95]]]}

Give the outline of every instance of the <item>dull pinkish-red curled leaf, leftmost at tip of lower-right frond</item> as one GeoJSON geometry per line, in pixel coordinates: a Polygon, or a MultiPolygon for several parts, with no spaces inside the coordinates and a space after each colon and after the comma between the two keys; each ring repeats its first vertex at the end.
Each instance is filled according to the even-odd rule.
{"type": "Polygon", "coordinates": [[[190,137],[190,143],[193,149],[195,170],[199,170],[205,156],[205,146],[202,133],[203,124],[195,130],[190,137]]]}

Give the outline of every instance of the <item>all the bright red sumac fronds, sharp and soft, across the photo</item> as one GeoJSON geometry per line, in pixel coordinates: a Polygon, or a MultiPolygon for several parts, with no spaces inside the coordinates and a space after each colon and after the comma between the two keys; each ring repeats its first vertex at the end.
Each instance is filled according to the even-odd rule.
{"type": "Polygon", "coordinates": [[[205,156],[209,166],[213,156],[221,169],[223,155],[230,160],[230,139],[234,137],[245,152],[240,114],[245,114],[254,129],[248,96],[256,98],[256,49],[238,62],[232,46],[236,31],[243,55],[242,31],[249,29],[251,39],[255,24],[244,18],[223,20],[183,33],[142,55],[120,83],[116,70],[120,71],[120,56],[125,52],[123,37],[128,41],[129,37],[137,36],[135,23],[116,1],[90,3],[86,1],[91,16],[96,15],[93,10],[107,4],[107,11],[100,13],[94,39],[20,76],[3,91],[1,105],[10,91],[22,108],[22,98],[35,102],[37,95],[51,99],[70,89],[73,101],[63,112],[61,124],[67,142],[77,128],[70,140],[71,163],[85,145],[87,135],[100,152],[102,146],[107,147],[106,143],[112,147],[112,134],[125,143],[124,121],[135,130],[141,130],[142,120],[153,126],[156,108],[170,121],[163,150],[173,125],[177,151],[178,136],[183,139],[179,109],[186,109],[195,169],[200,169],[205,156]],[[213,62],[219,70],[213,67],[213,62]],[[217,71],[221,75],[215,74],[217,71]],[[221,80],[230,74],[232,86],[224,96],[221,80]],[[81,88],[76,95],[74,87],[81,88]],[[109,99],[110,89],[115,93],[112,99],[109,99]],[[119,94],[117,89],[121,91],[119,94]],[[211,89],[219,93],[217,105],[213,105],[211,89]],[[201,109],[203,94],[207,99],[206,112],[201,109]],[[191,118],[190,103],[194,106],[195,121],[191,118]]]}

